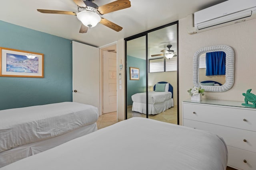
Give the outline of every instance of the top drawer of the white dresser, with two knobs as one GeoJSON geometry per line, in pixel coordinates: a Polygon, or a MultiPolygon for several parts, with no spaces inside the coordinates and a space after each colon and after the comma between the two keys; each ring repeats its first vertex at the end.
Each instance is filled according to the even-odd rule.
{"type": "Polygon", "coordinates": [[[183,118],[256,131],[256,109],[183,103],[183,118]]]}

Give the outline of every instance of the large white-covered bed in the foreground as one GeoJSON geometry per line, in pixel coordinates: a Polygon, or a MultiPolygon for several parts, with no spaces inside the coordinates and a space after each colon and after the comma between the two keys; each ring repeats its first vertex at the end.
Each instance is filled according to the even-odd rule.
{"type": "Polygon", "coordinates": [[[221,137],[133,117],[0,170],[226,170],[221,137]]]}

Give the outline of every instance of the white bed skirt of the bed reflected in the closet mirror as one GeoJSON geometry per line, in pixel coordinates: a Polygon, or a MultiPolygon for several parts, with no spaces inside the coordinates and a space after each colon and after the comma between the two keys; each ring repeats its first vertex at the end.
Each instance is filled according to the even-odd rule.
{"type": "MultiPolygon", "coordinates": [[[[173,98],[166,100],[165,102],[162,102],[162,103],[148,104],[148,114],[156,115],[156,114],[162,113],[163,111],[166,111],[167,109],[173,106],[174,106],[173,98]]],[[[137,112],[146,114],[146,104],[133,102],[132,111],[137,111],[137,112]]]]}

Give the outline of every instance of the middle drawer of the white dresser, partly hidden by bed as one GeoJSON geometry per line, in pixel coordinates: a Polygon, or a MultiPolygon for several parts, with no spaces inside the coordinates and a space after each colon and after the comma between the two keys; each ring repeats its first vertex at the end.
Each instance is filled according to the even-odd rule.
{"type": "Polygon", "coordinates": [[[215,133],[224,139],[226,145],[256,152],[256,132],[254,131],[236,129],[233,127],[215,125],[189,119],[184,119],[183,125],[215,133]]]}

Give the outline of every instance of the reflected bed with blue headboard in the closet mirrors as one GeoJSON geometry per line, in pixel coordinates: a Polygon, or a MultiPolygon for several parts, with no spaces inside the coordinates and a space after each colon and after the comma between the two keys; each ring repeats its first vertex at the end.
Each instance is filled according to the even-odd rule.
{"type": "MultiPolygon", "coordinates": [[[[173,87],[168,82],[158,82],[154,85],[154,92],[148,92],[148,114],[155,115],[174,106],[173,87]],[[158,84],[165,84],[164,91],[156,92],[158,84]]],[[[132,111],[146,114],[146,92],[132,95],[132,111]]]]}

